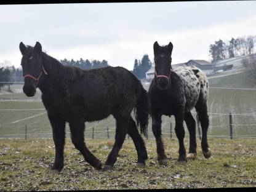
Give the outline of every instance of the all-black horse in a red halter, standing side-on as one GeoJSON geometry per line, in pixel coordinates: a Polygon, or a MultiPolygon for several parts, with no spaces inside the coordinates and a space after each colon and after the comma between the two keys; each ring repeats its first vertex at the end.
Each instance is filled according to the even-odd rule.
{"type": "Polygon", "coordinates": [[[55,143],[53,170],[63,168],[66,122],[69,123],[74,146],[95,169],[102,169],[102,163],[84,143],[84,122],[99,121],[110,114],[116,119],[116,135],[104,169],[113,168],[127,133],[134,141],[138,166],[145,166],[148,155],[137,126],[145,135],[149,118],[148,95],[134,74],[122,67],[81,70],[64,66],[42,52],[39,42],[34,47],[20,42],[20,52],[25,81],[23,92],[33,97],[36,87],[41,90],[42,102],[52,126],[55,143]],[[137,124],[131,117],[133,109],[137,124]]]}

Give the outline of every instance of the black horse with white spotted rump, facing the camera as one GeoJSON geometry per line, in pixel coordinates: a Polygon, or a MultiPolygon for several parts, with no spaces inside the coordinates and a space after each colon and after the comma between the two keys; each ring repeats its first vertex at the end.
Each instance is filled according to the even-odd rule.
{"type": "Polygon", "coordinates": [[[161,116],[163,114],[175,116],[175,133],[180,145],[178,161],[186,162],[186,158],[194,159],[196,157],[196,122],[190,112],[194,107],[202,127],[202,152],[205,158],[210,158],[211,153],[207,143],[207,129],[209,126],[207,94],[209,92],[209,82],[206,74],[195,66],[180,67],[175,71],[172,70],[171,55],[173,46],[171,42],[168,46],[159,46],[156,41],[153,49],[155,74],[150,84],[148,95],[159,164],[167,163],[161,139],[161,116]],[[190,132],[188,156],[186,156],[183,142],[185,137],[183,120],[185,120],[190,132]]]}

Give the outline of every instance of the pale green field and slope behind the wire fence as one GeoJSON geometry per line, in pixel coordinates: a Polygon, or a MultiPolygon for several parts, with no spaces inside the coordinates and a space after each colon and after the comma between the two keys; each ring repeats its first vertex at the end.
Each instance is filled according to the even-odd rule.
{"type": "MultiPolygon", "coordinates": [[[[248,71],[225,76],[222,78],[209,79],[210,87],[239,87],[254,88],[256,83],[250,77],[248,71]]],[[[149,84],[144,84],[148,89],[149,84]]],[[[5,88],[7,89],[7,87],[5,88]]],[[[26,97],[22,90],[22,85],[12,85],[12,93],[0,93],[0,135],[1,137],[25,137],[25,126],[27,127],[28,137],[52,137],[51,127],[47,118],[44,105],[41,102],[41,93],[39,89],[37,94],[32,97],[26,97]],[[42,109],[31,111],[12,111],[14,109],[42,109]],[[5,111],[9,110],[9,111],[5,111]]],[[[256,137],[256,90],[235,90],[235,89],[210,89],[208,100],[210,127],[209,137],[215,135],[229,135],[230,119],[228,113],[233,113],[233,134],[236,137],[256,137]],[[238,116],[234,114],[248,114],[247,116],[238,116]]],[[[193,111],[194,112],[194,111],[193,111]]],[[[196,113],[193,113],[196,118],[196,113]]],[[[163,137],[170,137],[170,122],[174,129],[174,117],[162,117],[163,137]]],[[[107,136],[106,127],[110,130],[110,137],[114,137],[115,121],[112,116],[99,122],[86,123],[86,138],[92,138],[92,127],[95,128],[94,138],[107,136]]],[[[186,126],[185,126],[186,127],[186,126]]],[[[149,137],[151,134],[151,121],[149,124],[149,137]]],[[[185,128],[186,132],[187,129],[185,128]]],[[[66,125],[67,137],[70,132],[68,124],[66,125]]],[[[175,134],[173,135],[175,137],[175,134]]],[[[186,134],[188,137],[188,134],[186,134]]]]}

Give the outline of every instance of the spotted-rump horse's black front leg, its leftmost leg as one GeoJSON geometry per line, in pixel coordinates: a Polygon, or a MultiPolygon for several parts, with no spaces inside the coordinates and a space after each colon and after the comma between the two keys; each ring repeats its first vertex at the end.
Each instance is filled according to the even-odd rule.
{"type": "Polygon", "coordinates": [[[154,137],[156,138],[156,151],[158,153],[158,162],[160,165],[167,164],[167,157],[164,154],[164,145],[162,143],[161,138],[161,116],[160,115],[152,115],[152,132],[154,137]]]}

